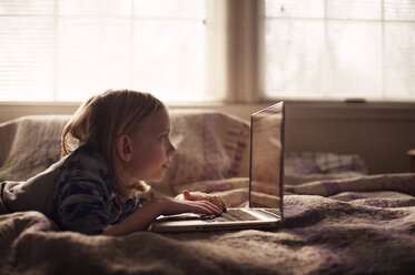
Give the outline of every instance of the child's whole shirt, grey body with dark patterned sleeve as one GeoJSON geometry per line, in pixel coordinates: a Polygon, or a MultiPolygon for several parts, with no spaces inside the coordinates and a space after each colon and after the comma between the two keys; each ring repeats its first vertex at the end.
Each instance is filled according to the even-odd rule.
{"type": "Polygon", "coordinates": [[[27,182],[2,183],[2,190],[1,201],[9,212],[36,210],[62,230],[86,234],[100,234],[140,206],[136,197],[111,196],[106,161],[89,145],[27,182]]]}

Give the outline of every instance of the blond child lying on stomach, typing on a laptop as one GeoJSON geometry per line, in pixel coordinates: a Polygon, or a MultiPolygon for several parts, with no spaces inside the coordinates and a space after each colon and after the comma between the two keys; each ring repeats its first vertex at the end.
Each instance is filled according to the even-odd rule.
{"type": "Polygon", "coordinates": [[[176,152],[166,105],[149,93],[120,90],[92,96],[62,132],[62,159],[27,182],[1,183],[0,213],[39,211],[62,230],[125,235],[159,215],[220,215],[217,196],[184,192],[185,200],[144,205],[144,181],[161,181],[176,152]]]}

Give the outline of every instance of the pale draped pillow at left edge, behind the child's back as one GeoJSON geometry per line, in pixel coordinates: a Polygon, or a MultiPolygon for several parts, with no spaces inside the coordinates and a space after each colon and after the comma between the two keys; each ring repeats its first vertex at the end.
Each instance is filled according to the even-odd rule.
{"type": "Polygon", "coordinates": [[[28,115],[0,124],[0,181],[26,181],[60,157],[69,115],[28,115]]]}

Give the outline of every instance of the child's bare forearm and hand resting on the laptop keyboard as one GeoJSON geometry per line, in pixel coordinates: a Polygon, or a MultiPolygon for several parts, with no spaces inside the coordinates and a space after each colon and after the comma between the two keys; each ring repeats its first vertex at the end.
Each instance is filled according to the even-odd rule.
{"type": "Polygon", "coordinates": [[[154,200],[139,207],[129,217],[119,224],[103,231],[103,235],[126,235],[136,231],[146,231],[151,222],[159,215],[180,213],[201,213],[220,215],[223,211],[209,201],[180,201],[174,198],[154,200]]]}

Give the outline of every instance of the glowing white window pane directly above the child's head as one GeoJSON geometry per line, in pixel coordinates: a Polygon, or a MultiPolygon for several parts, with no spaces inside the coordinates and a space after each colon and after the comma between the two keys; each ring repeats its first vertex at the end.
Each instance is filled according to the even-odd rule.
{"type": "Polygon", "coordinates": [[[79,101],[110,88],[130,88],[130,32],[125,19],[60,19],[58,99],[79,101]]]}

